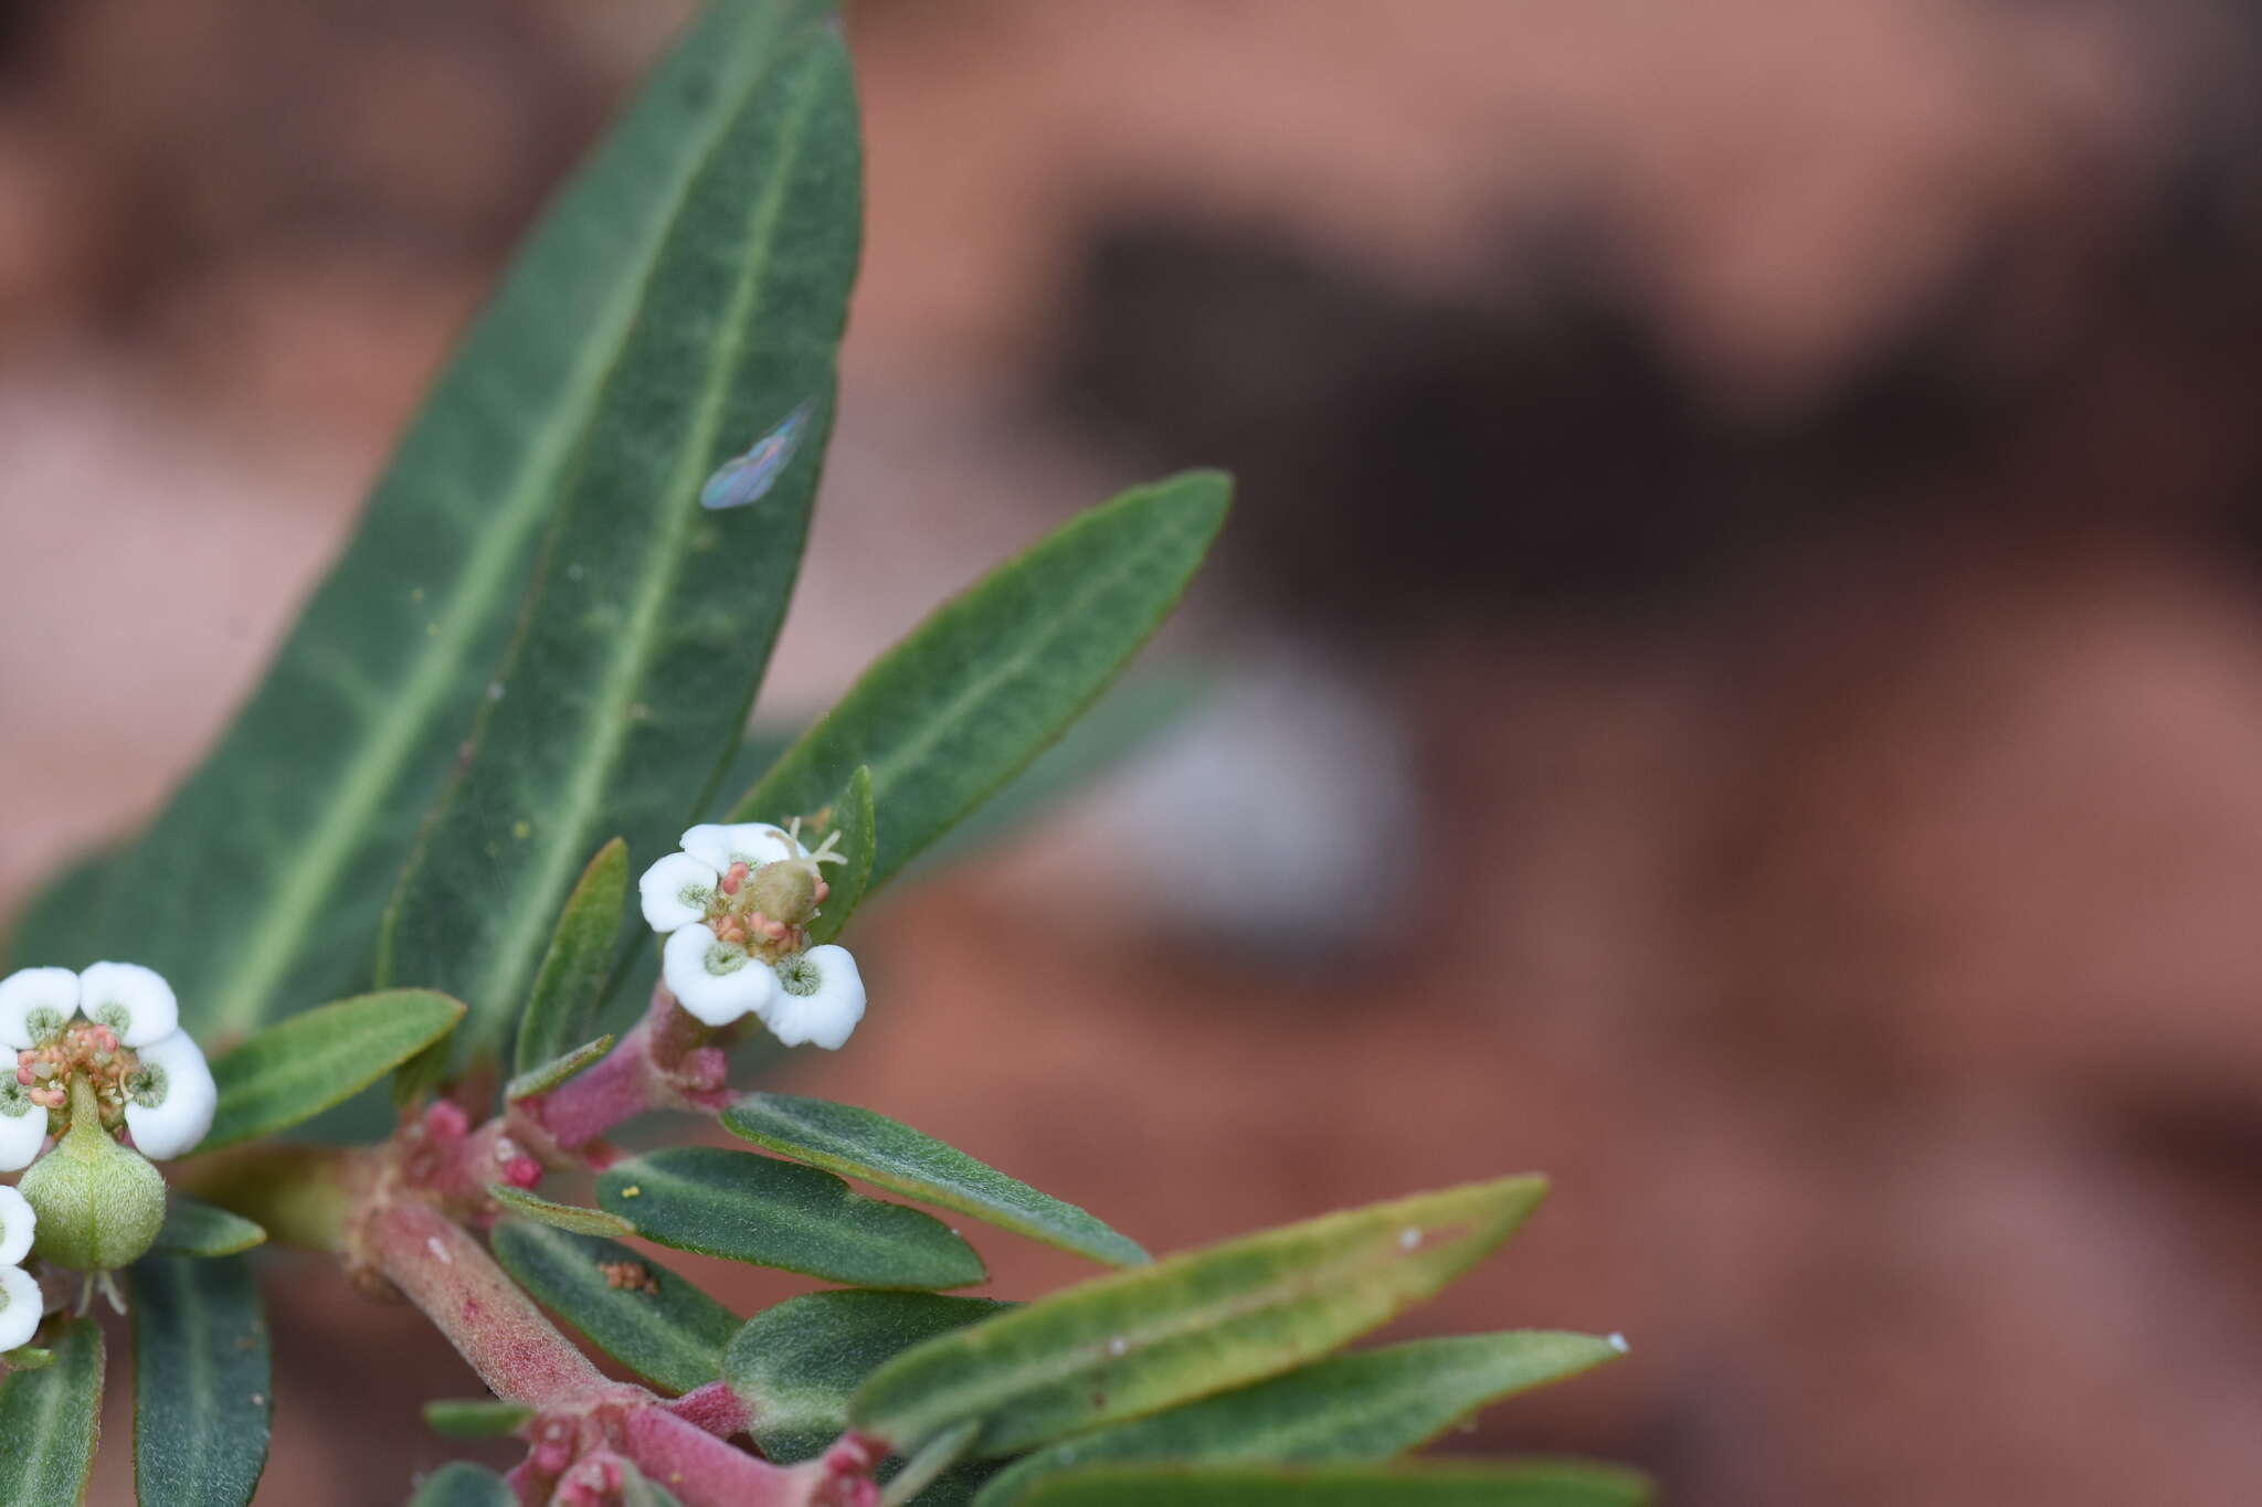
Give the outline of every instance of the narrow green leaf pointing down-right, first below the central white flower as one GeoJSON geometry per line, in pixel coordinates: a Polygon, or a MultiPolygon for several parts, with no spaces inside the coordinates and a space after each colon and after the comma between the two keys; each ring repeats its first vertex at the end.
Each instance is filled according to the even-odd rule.
{"type": "Polygon", "coordinates": [[[871,1109],[794,1094],[749,1094],[722,1112],[722,1123],[731,1134],[780,1157],[860,1177],[923,1204],[957,1209],[1106,1265],[1147,1261],[1147,1252],[1133,1240],[1074,1204],[1038,1193],[1029,1184],[982,1166],[966,1152],[871,1109]]]}

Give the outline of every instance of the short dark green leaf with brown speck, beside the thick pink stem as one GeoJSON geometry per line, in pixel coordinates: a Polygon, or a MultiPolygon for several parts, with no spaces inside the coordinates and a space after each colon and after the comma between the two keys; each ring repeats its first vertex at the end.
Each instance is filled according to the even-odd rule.
{"type": "Polygon", "coordinates": [[[722,1376],[737,1315],[627,1245],[502,1220],[493,1249],[520,1288],[651,1385],[690,1392],[722,1376]],[[642,1281],[615,1286],[604,1268],[642,1281]]]}

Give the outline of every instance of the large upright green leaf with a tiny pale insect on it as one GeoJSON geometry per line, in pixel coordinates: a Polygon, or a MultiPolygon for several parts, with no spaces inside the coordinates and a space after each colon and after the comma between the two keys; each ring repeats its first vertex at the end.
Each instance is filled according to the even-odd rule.
{"type": "Polygon", "coordinates": [[[470,1001],[461,1046],[509,1030],[581,859],[611,834],[642,861],[674,847],[737,746],[808,533],[857,217],[846,45],[808,27],[676,206],[563,479],[500,698],[387,911],[378,976],[470,1001]],[[701,508],[717,465],[805,402],[776,484],[701,508]]]}

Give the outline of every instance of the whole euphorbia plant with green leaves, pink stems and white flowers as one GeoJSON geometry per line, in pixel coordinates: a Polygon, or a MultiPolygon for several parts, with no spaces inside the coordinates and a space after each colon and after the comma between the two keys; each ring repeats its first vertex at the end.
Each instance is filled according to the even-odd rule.
{"type": "Polygon", "coordinates": [[[81,1496],[109,1297],[140,1500],[247,1502],[276,1408],[265,1240],[448,1335],[486,1394],[434,1401],[434,1428],[525,1441],[507,1478],[398,1482],[418,1502],[1644,1496],[1604,1466],[1387,1464],[1615,1340],[1339,1353],[1500,1245],[1536,1177],[1149,1261],[884,1114],[733,1082],[742,1035],[887,1028],[841,942],[857,904],[1083,712],[1226,513],[1217,474],[1131,490],[783,752],[742,750],[857,235],[837,20],[715,5],[518,258],[222,746],[18,920],[0,1500],[81,1496]],[[355,1114],[385,1078],[389,1130],[355,1114]],[[676,1118],[627,1155],[647,1112],[676,1118]],[[692,1143],[701,1121],[749,1150],[692,1143]],[[170,1184],[152,1159],[181,1159],[170,1184]],[[986,1268],[912,1204],[1115,1272],[946,1297],[986,1268]],[[654,1247],[828,1286],[740,1319],[654,1247]]]}

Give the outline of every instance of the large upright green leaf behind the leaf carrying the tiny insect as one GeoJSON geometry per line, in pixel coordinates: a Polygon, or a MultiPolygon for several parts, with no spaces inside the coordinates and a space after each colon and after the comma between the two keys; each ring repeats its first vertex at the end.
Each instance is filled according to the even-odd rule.
{"type": "Polygon", "coordinates": [[[366,987],[688,185],[780,38],[830,9],[719,2],[654,72],[459,346],[258,694],[127,854],[133,904],[43,960],[147,962],[208,1042],[366,987]]]}

